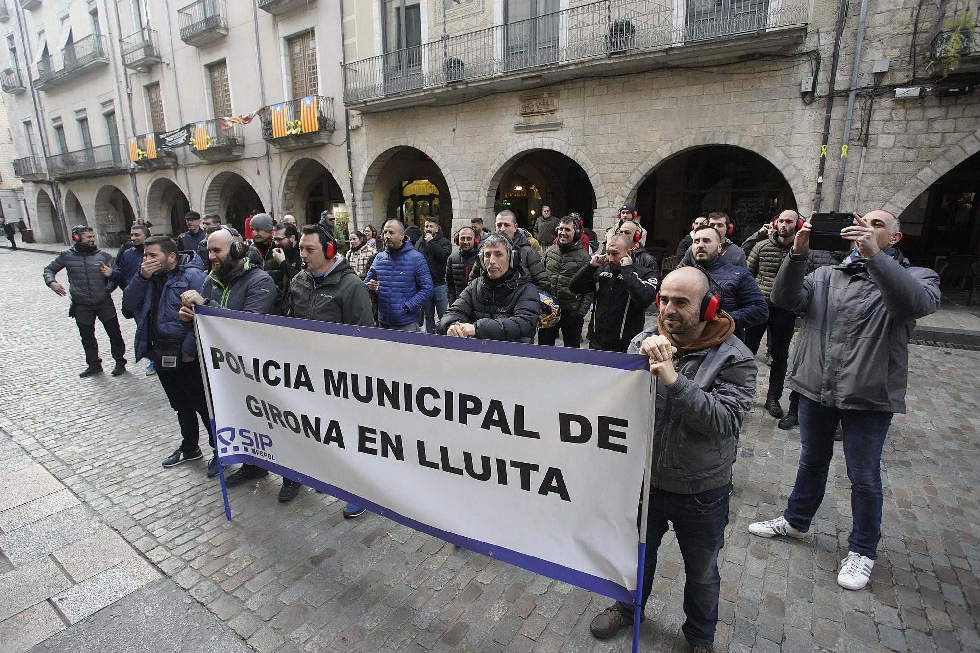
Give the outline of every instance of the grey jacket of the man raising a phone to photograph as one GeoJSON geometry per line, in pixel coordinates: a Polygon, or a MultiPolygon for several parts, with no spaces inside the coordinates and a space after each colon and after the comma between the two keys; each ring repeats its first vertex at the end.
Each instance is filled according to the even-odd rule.
{"type": "Polygon", "coordinates": [[[783,260],[770,299],[804,314],[792,389],[824,406],[906,412],[908,340],[939,309],[939,276],[894,251],[809,276],[806,255],[783,260]]]}

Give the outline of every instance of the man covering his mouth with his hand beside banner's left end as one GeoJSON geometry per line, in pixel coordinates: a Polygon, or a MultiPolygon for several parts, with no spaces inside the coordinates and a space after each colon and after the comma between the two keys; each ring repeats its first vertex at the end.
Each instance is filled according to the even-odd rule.
{"type": "MultiPolygon", "coordinates": [[[[178,317],[183,306],[181,296],[204,285],[204,266],[194,252],[178,253],[177,244],[167,236],[147,238],[139,247],[143,250],[142,263],[139,274],[126,285],[123,306],[136,319],[136,360],[146,357],[151,362],[160,361],[157,378],[177,414],[180,446],[163,462],[165,468],[171,468],[204,456],[199,446],[198,418],[208,430],[208,442],[215,446],[204,379],[197,364],[197,344],[178,317]]],[[[210,466],[208,471],[211,476],[210,466]]]]}

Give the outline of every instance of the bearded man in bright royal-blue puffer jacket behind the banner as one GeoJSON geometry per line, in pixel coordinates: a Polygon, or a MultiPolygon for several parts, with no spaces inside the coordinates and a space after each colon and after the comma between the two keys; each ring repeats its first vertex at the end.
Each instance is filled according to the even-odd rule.
{"type": "Polygon", "coordinates": [[[368,289],[377,293],[377,326],[417,331],[421,308],[432,297],[428,264],[397,220],[384,224],[381,237],[384,249],[365,276],[368,289]]]}

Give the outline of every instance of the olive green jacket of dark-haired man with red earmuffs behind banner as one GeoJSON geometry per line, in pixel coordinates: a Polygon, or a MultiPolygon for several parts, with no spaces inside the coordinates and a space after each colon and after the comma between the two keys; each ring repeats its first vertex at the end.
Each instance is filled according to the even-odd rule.
{"type": "Polygon", "coordinates": [[[293,277],[286,315],[340,325],[374,326],[368,286],[342,256],[334,259],[321,278],[308,270],[293,277]]]}

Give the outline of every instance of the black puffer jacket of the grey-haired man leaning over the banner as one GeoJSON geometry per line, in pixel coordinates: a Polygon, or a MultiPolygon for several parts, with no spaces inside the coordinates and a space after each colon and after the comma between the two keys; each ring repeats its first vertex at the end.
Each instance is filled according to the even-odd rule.
{"type": "Polygon", "coordinates": [[[436,330],[445,333],[458,322],[476,326],[476,337],[533,342],[541,319],[541,296],[524,268],[498,279],[481,275],[464,288],[442,316],[436,330]]]}

